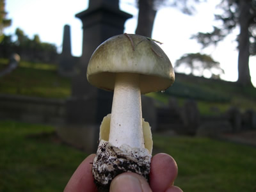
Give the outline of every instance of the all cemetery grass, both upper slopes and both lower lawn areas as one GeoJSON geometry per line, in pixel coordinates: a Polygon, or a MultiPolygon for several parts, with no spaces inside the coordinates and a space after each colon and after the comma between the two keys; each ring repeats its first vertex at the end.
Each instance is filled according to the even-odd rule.
{"type": "MultiPolygon", "coordinates": [[[[0,70],[8,61],[0,60],[0,70]]],[[[84,78],[86,78],[84,74],[84,78]]],[[[21,61],[0,79],[0,94],[66,99],[70,79],[55,65],[21,61]]],[[[193,98],[201,115],[218,115],[235,106],[256,110],[256,89],[221,81],[180,79],[172,89],[148,96],[179,106],[193,98]]],[[[154,153],[172,155],[179,166],[175,182],[184,191],[256,191],[256,147],[225,140],[154,133],[154,153]]],[[[88,154],[58,139],[52,125],[0,120],[0,191],[61,191],[88,154]]]]}

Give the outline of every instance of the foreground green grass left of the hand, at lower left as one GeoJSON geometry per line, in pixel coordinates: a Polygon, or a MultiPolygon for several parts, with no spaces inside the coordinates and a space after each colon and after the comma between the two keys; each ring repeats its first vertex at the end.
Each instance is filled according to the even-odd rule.
{"type": "Polygon", "coordinates": [[[53,131],[0,121],[0,191],[63,191],[87,154],[54,141],[53,131]]]}

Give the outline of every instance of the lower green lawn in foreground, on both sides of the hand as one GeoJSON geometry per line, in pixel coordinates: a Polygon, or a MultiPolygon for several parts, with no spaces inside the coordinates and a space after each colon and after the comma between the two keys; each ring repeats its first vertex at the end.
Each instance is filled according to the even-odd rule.
{"type": "MultiPolygon", "coordinates": [[[[179,166],[184,191],[255,191],[256,148],[207,138],[154,135],[157,152],[179,166]]],[[[63,191],[88,155],[64,145],[45,125],[0,121],[0,191],[63,191]]]]}

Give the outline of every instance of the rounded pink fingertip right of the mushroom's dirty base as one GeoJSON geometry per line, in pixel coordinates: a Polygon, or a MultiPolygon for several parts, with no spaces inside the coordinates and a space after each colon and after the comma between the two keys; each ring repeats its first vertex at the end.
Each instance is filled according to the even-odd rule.
{"type": "Polygon", "coordinates": [[[168,154],[156,154],[152,157],[150,168],[150,187],[152,191],[163,192],[173,186],[178,167],[173,157],[168,154]]]}

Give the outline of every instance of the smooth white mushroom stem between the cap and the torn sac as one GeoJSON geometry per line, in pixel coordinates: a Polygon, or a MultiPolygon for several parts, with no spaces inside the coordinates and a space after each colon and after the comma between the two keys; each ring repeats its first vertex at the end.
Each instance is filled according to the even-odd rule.
{"type": "Polygon", "coordinates": [[[109,143],[145,148],[141,117],[140,75],[116,74],[109,143]]]}

